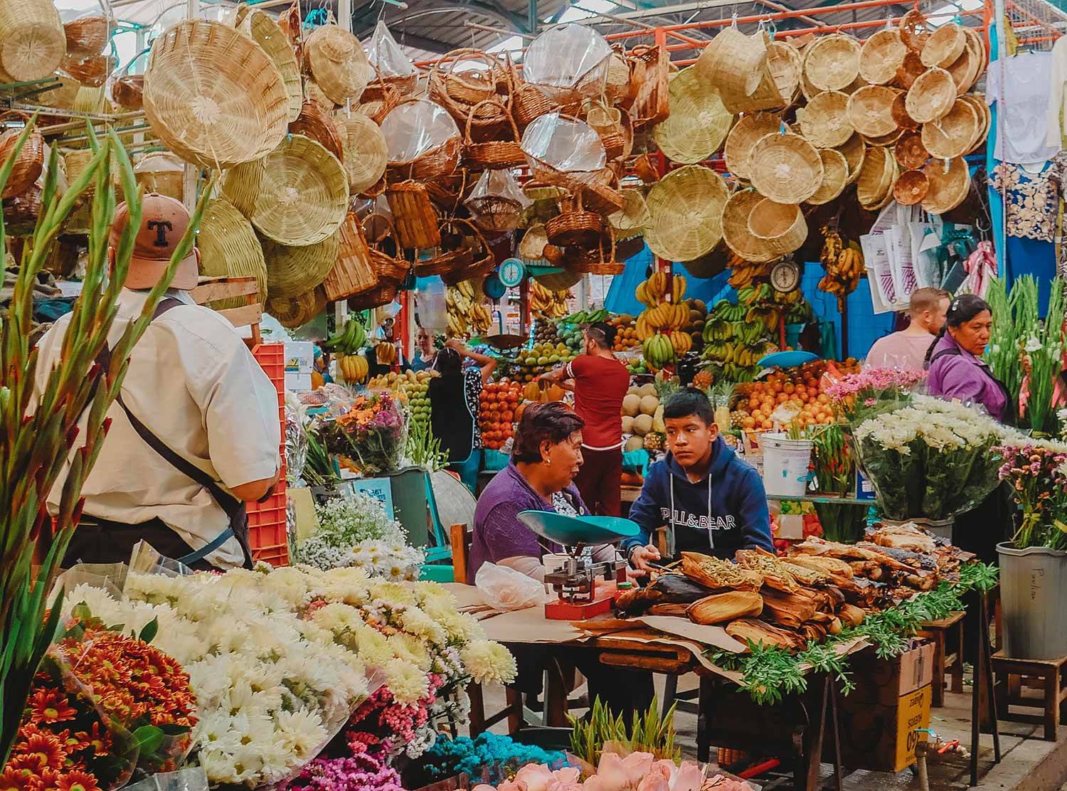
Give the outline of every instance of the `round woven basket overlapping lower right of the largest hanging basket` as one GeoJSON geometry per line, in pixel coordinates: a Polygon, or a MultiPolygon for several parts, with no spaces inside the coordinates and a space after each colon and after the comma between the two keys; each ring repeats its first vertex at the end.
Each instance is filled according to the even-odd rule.
{"type": "Polygon", "coordinates": [[[256,231],[290,247],[318,244],[337,233],[349,199],[348,174],[337,157],[314,140],[291,135],[264,165],[252,216],[256,231]]]}

